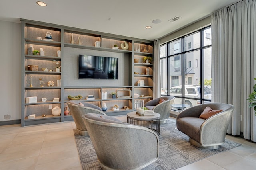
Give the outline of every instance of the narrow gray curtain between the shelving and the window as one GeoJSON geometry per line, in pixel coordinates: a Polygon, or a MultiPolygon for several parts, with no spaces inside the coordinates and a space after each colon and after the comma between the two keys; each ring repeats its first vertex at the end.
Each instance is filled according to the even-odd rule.
{"type": "Polygon", "coordinates": [[[154,41],[154,72],[153,72],[153,98],[159,98],[161,96],[161,86],[160,86],[160,40],[156,39],[154,41]]]}

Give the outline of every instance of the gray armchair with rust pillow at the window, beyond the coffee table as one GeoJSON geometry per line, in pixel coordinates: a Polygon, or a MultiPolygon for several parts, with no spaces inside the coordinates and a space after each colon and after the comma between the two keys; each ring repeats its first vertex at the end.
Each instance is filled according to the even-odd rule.
{"type": "Polygon", "coordinates": [[[161,115],[160,123],[164,124],[170,117],[172,109],[171,104],[173,104],[174,98],[174,96],[162,96],[160,98],[156,98],[146,102],[144,104],[144,107],[148,108],[149,110],[154,110],[156,113],[159,113],[161,115]],[[162,100],[161,98],[164,99],[164,101],[160,102],[162,100]]]}

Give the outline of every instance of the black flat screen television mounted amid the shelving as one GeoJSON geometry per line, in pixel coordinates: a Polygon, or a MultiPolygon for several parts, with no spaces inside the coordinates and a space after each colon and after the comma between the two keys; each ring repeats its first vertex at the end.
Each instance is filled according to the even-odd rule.
{"type": "Polygon", "coordinates": [[[117,79],[118,58],[79,55],[78,78],[117,79]]]}

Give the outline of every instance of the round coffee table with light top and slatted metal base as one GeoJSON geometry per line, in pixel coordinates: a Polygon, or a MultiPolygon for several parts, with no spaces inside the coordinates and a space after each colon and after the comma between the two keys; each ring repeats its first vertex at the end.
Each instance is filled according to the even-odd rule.
{"type": "Polygon", "coordinates": [[[160,114],[156,112],[154,116],[139,116],[132,111],[127,113],[127,123],[147,127],[160,135],[160,114]]]}

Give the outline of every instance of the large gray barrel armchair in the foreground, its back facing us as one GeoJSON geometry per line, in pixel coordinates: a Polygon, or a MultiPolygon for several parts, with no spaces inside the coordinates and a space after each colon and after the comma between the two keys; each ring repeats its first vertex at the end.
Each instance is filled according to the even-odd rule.
{"type": "Polygon", "coordinates": [[[122,123],[105,115],[83,115],[103,169],[140,170],[159,157],[158,135],[142,126],[122,123]]]}

